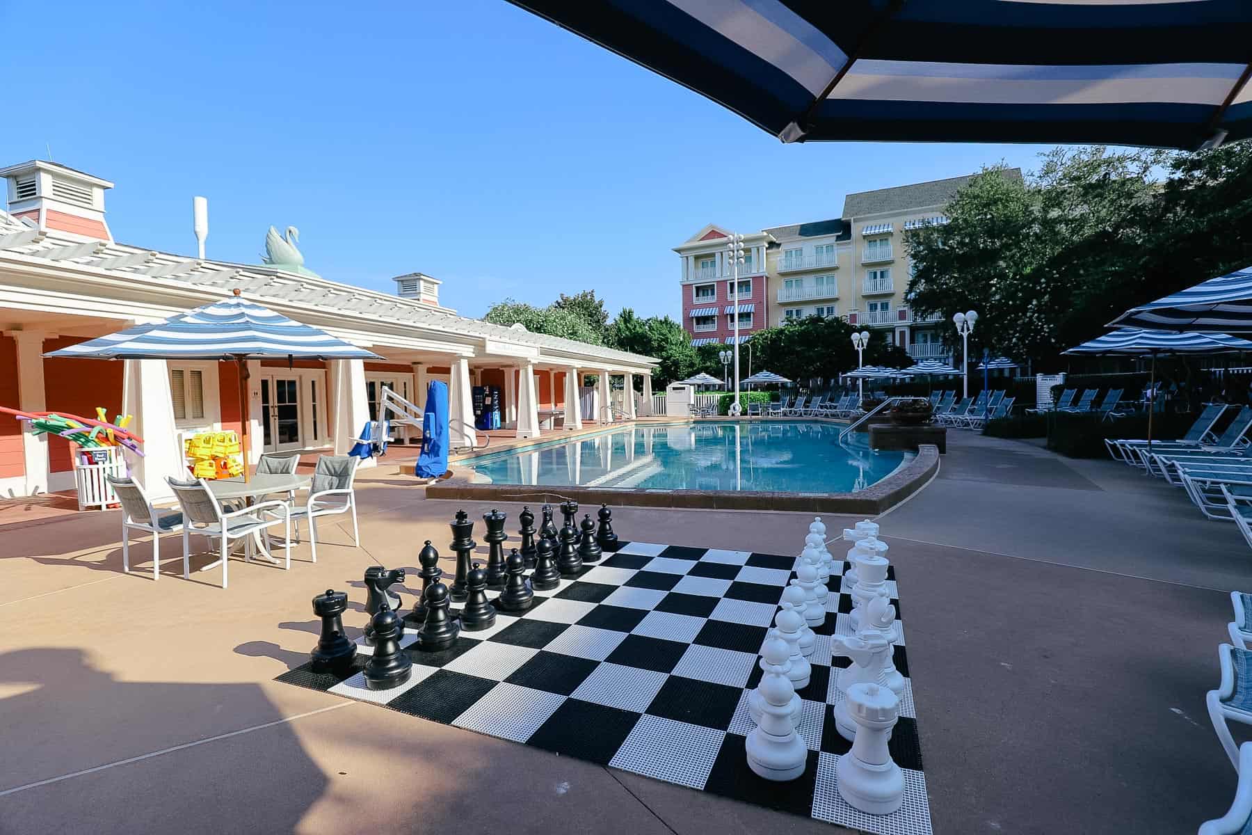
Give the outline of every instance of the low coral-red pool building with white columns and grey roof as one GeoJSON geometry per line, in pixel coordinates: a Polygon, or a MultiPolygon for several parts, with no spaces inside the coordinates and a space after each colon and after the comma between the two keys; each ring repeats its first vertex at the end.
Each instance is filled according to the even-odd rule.
{"type": "MultiPolygon", "coordinates": [[[[526,438],[562,419],[565,428],[580,428],[585,414],[631,418],[652,402],[652,358],[457,315],[441,305],[439,282],[429,275],[398,275],[392,295],[322,278],[294,247],[298,260],[290,263],[212,260],[203,255],[207,213],[205,228],[195,224],[197,257],[121,244],[106,219],[113,183],[48,161],[11,165],[0,177],[8,185],[8,212],[0,210],[0,407],[133,414],[130,428],[145,442],[139,474],[150,493],[163,492],[165,476],[185,473],[184,433],[242,428],[235,363],[44,353],[160,322],[235,289],[383,357],[249,362],[253,463],[267,451],[348,451],[378,417],[384,386],[421,409],[427,383],[447,382],[453,447],[481,442],[475,386],[500,388],[503,427],[526,438]],[[586,376],[596,376],[593,389],[583,387],[586,376]],[[618,393],[634,391],[635,376],[642,377],[642,407],[618,393]]],[[[273,229],[270,237],[279,238],[273,229]]],[[[68,446],[49,444],[0,413],[0,494],[73,487],[68,446]]]]}

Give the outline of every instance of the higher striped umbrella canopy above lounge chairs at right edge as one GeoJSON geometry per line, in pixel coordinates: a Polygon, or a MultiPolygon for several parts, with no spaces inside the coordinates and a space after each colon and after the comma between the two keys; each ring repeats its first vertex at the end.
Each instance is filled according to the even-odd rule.
{"type": "Polygon", "coordinates": [[[1132,308],[1109,327],[1252,333],[1252,267],[1132,308]]]}

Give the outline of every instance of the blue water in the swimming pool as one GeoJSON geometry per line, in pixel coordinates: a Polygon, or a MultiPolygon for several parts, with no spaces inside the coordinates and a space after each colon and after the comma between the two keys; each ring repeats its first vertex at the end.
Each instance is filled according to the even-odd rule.
{"type": "Polygon", "coordinates": [[[803,421],[651,423],[459,462],[475,481],[651,489],[843,493],[864,489],[913,453],[875,452],[864,433],[803,421]]]}

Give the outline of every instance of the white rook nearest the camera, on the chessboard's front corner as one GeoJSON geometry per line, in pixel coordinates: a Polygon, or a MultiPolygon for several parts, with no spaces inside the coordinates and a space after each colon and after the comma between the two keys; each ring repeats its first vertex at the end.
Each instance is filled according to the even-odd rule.
{"type": "Polygon", "coordinates": [[[900,700],[886,687],[861,684],[849,689],[846,704],[856,734],[853,750],[835,765],[839,796],[870,815],[890,815],[904,804],[904,772],[886,747],[900,700]]]}

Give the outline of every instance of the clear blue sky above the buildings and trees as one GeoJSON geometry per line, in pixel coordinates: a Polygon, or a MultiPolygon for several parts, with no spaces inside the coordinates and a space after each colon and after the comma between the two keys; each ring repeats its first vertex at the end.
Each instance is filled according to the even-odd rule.
{"type": "Polygon", "coordinates": [[[467,315],[587,288],[677,315],[671,247],[705,223],[838,217],[848,192],[1043,149],[782,145],[503,0],[60,3],[55,24],[0,53],[0,163],[50,146],[115,182],[123,243],[194,254],[204,194],[210,258],[257,263],[294,225],[322,275],[389,292],[421,270],[467,315]]]}

